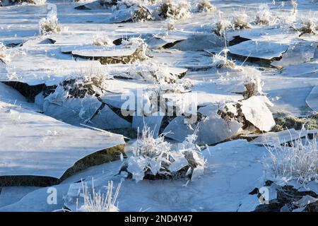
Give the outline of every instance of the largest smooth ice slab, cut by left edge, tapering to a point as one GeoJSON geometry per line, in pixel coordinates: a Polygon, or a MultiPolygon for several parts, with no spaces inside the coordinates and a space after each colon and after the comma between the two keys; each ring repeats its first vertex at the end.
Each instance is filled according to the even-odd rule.
{"type": "Polygon", "coordinates": [[[124,144],[123,136],[64,124],[0,102],[0,176],[60,178],[87,155],[124,144]]]}

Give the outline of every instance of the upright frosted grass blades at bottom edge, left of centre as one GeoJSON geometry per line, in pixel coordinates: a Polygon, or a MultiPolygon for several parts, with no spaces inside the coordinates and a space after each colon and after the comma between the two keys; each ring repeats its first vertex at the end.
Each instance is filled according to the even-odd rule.
{"type": "Polygon", "coordinates": [[[78,209],[80,212],[119,212],[118,206],[116,206],[117,197],[119,195],[119,189],[121,183],[118,184],[116,191],[113,194],[113,182],[108,182],[107,193],[101,193],[95,191],[94,182],[92,182],[92,194],[88,191],[87,184],[82,182],[84,204],[78,209]]]}

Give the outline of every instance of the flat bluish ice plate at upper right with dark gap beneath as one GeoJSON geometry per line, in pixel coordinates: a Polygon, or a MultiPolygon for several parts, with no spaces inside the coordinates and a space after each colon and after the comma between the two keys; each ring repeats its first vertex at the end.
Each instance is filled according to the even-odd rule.
{"type": "Polygon", "coordinates": [[[282,56],[287,51],[287,44],[275,42],[246,41],[228,47],[231,54],[242,57],[253,57],[258,59],[272,60],[282,56]]]}

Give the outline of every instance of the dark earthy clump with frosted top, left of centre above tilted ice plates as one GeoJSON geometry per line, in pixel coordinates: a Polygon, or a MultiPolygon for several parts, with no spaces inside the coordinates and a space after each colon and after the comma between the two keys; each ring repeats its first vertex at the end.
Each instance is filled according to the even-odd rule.
{"type": "Polygon", "coordinates": [[[83,98],[86,95],[99,96],[105,92],[109,79],[112,79],[112,77],[101,69],[91,67],[66,78],[51,95],[52,97],[58,95],[64,98],[83,98]]]}

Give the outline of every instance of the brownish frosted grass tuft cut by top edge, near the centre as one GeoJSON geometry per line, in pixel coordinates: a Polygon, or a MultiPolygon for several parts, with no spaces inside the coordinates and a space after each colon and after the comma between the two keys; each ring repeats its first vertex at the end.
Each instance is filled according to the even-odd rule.
{"type": "Polygon", "coordinates": [[[187,1],[163,0],[158,8],[162,18],[180,20],[191,17],[190,5],[187,1]]]}

